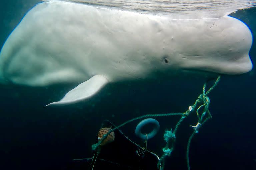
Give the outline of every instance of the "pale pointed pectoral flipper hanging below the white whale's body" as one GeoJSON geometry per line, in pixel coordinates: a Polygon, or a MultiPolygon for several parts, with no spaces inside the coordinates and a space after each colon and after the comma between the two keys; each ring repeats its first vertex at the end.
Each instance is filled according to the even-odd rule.
{"type": "Polygon", "coordinates": [[[103,75],[95,75],[69,91],[59,102],[53,102],[46,106],[66,105],[88,99],[100,91],[107,83],[108,79],[106,77],[103,75]]]}

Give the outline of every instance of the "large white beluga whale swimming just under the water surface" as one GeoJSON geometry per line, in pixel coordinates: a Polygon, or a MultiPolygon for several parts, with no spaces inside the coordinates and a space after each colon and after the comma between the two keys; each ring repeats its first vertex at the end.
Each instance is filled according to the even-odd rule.
{"type": "Polygon", "coordinates": [[[240,20],[172,19],[51,0],[33,7],[0,52],[0,82],[31,87],[79,82],[50,105],[89,100],[108,83],[252,69],[240,20]]]}

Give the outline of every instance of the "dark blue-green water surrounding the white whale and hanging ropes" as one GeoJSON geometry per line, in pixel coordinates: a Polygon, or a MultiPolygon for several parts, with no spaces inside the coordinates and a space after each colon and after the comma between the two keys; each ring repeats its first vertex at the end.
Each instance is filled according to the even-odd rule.
{"type": "MultiPolygon", "coordinates": [[[[9,0],[0,6],[0,46],[37,0],[9,0]]],[[[256,9],[233,15],[256,34],[256,9]]],[[[255,65],[256,43],[250,51],[255,65]]],[[[256,169],[256,75],[223,76],[209,95],[213,118],[191,142],[190,165],[197,170],[256,169]]],[[[44,108],[59,100],[73,86],[28,88],[0,87],[0,169],[72,169],[72,159],[91,157],[91,145],[103,120],[119,125],[144,114],[184,112],[201,94],[204,80],[172,79],[169,82],[127,82],[107,86],[90,102],[64,108],[44,108]],[[111,93],[111,94],[110,94],[111,93]],[[103,97],[102,97],[103,96],[103,97]],[[111,101],[109,100],[111,98],[111,101]]],[[[162,154],[164,130],[174,128],[179,117],[156,118],[160,131],[148,142],[148,149],[162,154]]],[[[121,128],[132,140],[139,121],[121,128]]],[[[183,122],[177,144],[166,169],[186,169],[186,145],[196,116],[183,122]]],[[[129,152],[125,150],[124,152],[129,152]]]]}

